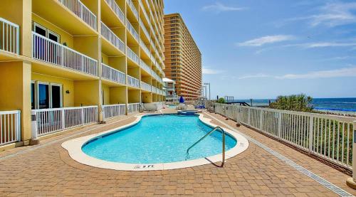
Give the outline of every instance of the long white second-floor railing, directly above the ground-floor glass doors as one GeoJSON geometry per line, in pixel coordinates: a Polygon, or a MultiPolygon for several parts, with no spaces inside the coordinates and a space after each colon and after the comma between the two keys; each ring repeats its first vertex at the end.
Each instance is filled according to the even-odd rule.
{"type": "Polygon", "coordinates": [[[32,32],[32,58],[98,76],[98,61],[32,32]]]}

